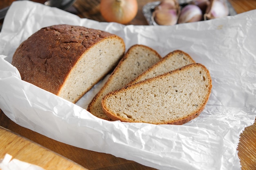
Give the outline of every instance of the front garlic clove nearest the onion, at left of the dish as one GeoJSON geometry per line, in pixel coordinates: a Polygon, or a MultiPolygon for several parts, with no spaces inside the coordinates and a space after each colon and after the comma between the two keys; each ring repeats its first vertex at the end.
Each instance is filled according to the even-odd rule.
{"type": "Polygon", "coordinates": [[[176,9],[155,10],[153,19],[158,25],[175,25],[178,20],[176,9]]]}

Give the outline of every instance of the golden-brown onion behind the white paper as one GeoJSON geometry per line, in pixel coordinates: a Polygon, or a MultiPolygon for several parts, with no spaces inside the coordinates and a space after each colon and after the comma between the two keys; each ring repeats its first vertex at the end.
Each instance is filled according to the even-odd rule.
{"type": "Polygon", "coordinates": [[[138,11],[137,0],[101,0],[100,12],[107,22],[127,24],[138,11]]]}

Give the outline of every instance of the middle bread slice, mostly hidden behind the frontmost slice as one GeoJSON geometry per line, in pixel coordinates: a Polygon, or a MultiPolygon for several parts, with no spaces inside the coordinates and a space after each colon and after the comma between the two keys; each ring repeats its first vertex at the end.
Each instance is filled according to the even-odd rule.
{"type": "Polygon", "coordinates": [[[155,63],[145,72],[137,76],[133,81],[128,83],[128,85],[165,74],[192,63],[195,63],[195,61],[191,58],[191,56],[189,56],[189,54],[181,50],[172,51],[164,56],[164,58],[162,58],[159,62],[155,63]]]}

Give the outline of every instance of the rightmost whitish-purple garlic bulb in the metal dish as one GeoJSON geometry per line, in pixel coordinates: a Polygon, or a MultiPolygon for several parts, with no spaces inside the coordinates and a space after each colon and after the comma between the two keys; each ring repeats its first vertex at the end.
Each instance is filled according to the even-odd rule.
{"type": "Polygon", "coordinates": [[[221,18],[229,15],[229,9],[225,0],[211,0],[204,14],[204,20],[221,18]]]}

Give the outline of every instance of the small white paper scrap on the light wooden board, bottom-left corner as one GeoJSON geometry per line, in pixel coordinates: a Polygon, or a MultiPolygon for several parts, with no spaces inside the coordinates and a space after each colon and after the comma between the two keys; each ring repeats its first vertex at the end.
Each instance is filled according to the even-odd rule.
{"type": "Polygon", "coordinates": [[[5,154],[3,159],[0,159],[0,170],[44,170],[40,166],[33,165],[18,159],[12,159],[10,154],[5,154]]]}

